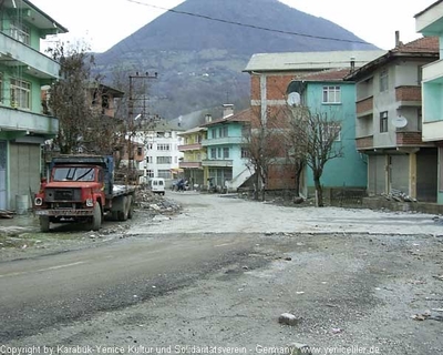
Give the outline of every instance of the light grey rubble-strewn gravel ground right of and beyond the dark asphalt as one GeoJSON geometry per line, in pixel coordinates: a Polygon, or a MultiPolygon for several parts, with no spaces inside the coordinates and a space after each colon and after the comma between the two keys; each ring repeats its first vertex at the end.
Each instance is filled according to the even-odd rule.
{"type": "Polygon", "coordinates": [[[186,287],[8,345],[262,354],[299,342],[312,354],[443,352],[443,226],[432,215],[290,209],[192,193],[169,197],[183,203],[182,214],[137,220],[127,233],[163,234],[172,242],[238,233],[254,239],[254,247],[186,287]],[[285,312],[299,324],[279,324],[285,312]]]}

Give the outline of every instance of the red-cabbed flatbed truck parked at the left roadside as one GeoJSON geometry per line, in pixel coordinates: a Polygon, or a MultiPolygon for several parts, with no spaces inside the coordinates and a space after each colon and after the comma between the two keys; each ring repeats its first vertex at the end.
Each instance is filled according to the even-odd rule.
{"type": "Polygon", "coordinates": [[[60,155],[42,179],[33,211],[42,232],[52,223],[86,222],[99,231],[104,215],[132,217],[136,186],[114,184],[114,160],[109,155],[60,155]]]}

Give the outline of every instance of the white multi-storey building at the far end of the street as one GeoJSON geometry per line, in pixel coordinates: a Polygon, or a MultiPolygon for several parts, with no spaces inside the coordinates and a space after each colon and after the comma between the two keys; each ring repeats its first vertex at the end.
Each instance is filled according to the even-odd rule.
{"type": "Polygon", "coordinates": [[[183,144],[178,133],[183,131],[178,124],[165,120],[137,131],[137,140],[145,146],[145,161],[138,168],[144,171],[144,182],[148,182],[150,178],[164,178],[171,183],[177,176],[184,155],[178,151],[178,145],[183,144]]]}

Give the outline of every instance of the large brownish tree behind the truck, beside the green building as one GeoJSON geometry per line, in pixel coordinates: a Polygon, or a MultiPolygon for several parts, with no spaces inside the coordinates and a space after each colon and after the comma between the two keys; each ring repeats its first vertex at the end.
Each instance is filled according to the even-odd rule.
{"type": "Polygon", "coordinates": [[[59,119],[59,134],[53,140],[62,154],[112,154],[120,134],[115,121],[103,120],[101,77],[92,77],[94,57],[86,45],[59,43],[48,50],[60,62],[60,77],[50,89],[49,108],[59,119]],[[100,102],[100,103],[99,103],[100,102]]]}

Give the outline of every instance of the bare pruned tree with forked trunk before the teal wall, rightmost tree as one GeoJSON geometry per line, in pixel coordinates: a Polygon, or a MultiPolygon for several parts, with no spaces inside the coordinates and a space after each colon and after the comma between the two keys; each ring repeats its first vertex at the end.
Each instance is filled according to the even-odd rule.
{"type": "Polygon", "coordinates": [[[323,206],[321,175],[324,165],[332,159],[343,156],[342,145],[338,142],[340,121],[326,112],[311,112],[298,105],[291,108],[288,136],[295,142],[293,155],[312,170],[316,186],[316,205],[323,206]]]}

